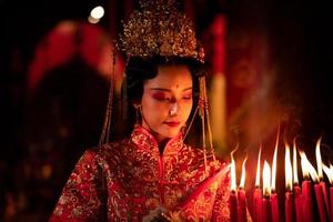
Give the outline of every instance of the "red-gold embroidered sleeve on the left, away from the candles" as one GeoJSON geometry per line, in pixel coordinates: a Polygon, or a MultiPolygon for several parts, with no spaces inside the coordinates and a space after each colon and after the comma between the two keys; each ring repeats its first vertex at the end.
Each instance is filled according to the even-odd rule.
{"type": "Polygon", "coordinates": [[[103,180],[97,153],[93,150],[85,151],[63,188],[49,221],[100,221],[103,213],[103,180]]]}

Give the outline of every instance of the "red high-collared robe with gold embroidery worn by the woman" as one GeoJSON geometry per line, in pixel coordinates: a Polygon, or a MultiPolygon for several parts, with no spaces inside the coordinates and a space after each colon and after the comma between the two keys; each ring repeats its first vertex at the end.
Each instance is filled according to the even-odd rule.
{"type": "Polygon", "coordinates": [[[129,139],[84,152],[50,221],[150,221],[169,212],[178,221],[229,221],[229,164],[201,149],[155,139],[135,128],[129,139]]]}

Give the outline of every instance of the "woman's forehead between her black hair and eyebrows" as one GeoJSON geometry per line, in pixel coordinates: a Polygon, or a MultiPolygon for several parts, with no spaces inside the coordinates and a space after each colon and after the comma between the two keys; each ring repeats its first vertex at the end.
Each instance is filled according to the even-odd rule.
{"type": "Polygon", "coordinates": [[[145,82],[147,87],[189,88],[192,87],[192,75],[186,65],[161,65],[158,75],[145,82]]]}

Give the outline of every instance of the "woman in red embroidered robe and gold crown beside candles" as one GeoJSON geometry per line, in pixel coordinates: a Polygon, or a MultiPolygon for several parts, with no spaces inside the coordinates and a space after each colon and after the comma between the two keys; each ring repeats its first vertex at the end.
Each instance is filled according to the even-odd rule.
{"type": "MultiPolygon", "coordinates": [[[[162,18],[170,24],[174,16],[174,22],[188,30],[189,24],[180,20],[183,17],[174,13],[171,4],[142,6],[143,12],[134,12],[127,31],[135,32],[135,22],[141,21],[144,10],[150,10],[149,21],[162,18]]],[[[183,39],[169,34],[174,38],[172,42],[189,37],[180,33],[183,39]]],[[[191,111],[198,110],[193,103],[203,89],[199,87],[204,72],[196,44],[161,47],[158,51],[155,47],[149,51],[145,46],[135,51],[147,39],[144,34],[133,36],[125,33],[122,39],[128,56],[127,99],[137,113],[132,133],[122,141],[85,151],[50,221],[229,221],[228,164],[183,142],[183,129],[191,111]]],[[[162,38],[152,37],[157,39],[162,38]]]]}

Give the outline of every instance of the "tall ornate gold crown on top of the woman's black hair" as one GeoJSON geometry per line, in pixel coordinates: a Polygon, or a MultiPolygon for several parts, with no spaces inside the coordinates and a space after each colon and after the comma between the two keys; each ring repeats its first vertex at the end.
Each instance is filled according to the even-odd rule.
{"type": "Polygon", "coordinates": [[[141,0],[123,24],[118,48],[128,58],[188,57],[204,60],[193,22],[180,12],[175,0],[141,0]]]}

